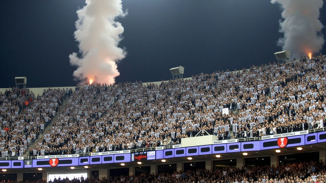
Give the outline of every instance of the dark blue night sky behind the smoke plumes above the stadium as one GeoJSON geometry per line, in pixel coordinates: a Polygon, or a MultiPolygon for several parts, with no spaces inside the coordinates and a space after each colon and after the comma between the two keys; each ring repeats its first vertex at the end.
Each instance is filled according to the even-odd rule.
{"type": "MultiPolygon", "coordinates": [[[[84,0],[0,1],[0,88],[14,77],[28,87],[74,86],[68,55],[76,10],[84,0]]],[[[326,25],[325,2],[320,21],[326,25]]],[[[118,63],[116,82],[172,78],[182,65],[184,77],[274,62],[281,10],[269,0],[123,0],[128,15],[120,46],[128,55],[118,63]]],[[[325,37],[325,29],[323,29],[325,37]]],[[[325,52],[325,45],[323,53],[325,52]]]]}

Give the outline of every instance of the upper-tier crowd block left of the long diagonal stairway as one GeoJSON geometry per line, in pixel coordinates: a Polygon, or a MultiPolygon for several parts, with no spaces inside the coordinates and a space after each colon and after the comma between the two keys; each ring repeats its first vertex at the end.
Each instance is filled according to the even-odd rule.
{"type": "Polygon", "coordinates": [[[23,156],[25,150],[51,123],[65,90],[48,89],[35,96],[28,88],[0,93],[0,156],[23,156]]]}

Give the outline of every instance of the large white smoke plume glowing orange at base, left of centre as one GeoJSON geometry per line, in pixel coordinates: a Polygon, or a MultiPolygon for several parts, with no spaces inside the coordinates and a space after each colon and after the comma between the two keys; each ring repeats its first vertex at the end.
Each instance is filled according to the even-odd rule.
{"type": "Polygon", "coordinates": [[[115,82],[119,76],[116,62],[126,57],[125,49],[119,48],[124,28],[117,17],[123,17],[122,0],[86,0],[86,6],[77,11],[76,41],[79,51],[69,55],[70,64],[77,66],[73,76],[83,82],[115,82]]]}

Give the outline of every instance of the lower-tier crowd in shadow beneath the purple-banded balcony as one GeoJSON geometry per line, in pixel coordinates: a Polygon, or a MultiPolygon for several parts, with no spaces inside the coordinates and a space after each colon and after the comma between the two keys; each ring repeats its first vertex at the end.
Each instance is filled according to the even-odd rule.
{"type": "MultiPolygon", "coordinates": [[[[139,176],[78,177],[55,178],[49,183],[324,183],[325,165],[322,162],[290,163],[273,166],[246,166],[242,168],[223,168],[216,170],[199,169],[160,174],[142,173],[139,176]]],[[[16,181],[9,181],[17,183],[16,181]]],[[[46,183],[45,180],[25,181],[23,183],[46,183]]]]}

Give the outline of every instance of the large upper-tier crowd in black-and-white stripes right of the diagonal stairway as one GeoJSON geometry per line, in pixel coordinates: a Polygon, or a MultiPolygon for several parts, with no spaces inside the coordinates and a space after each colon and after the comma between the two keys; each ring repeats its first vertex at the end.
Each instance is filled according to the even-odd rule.
{"type": "Polygon", "coordinates": [[[223,140],[323,128],[325,65],[319,55],[160,85],[85,83],[30,155],[172,145],[200,130],[223,140]]]}

